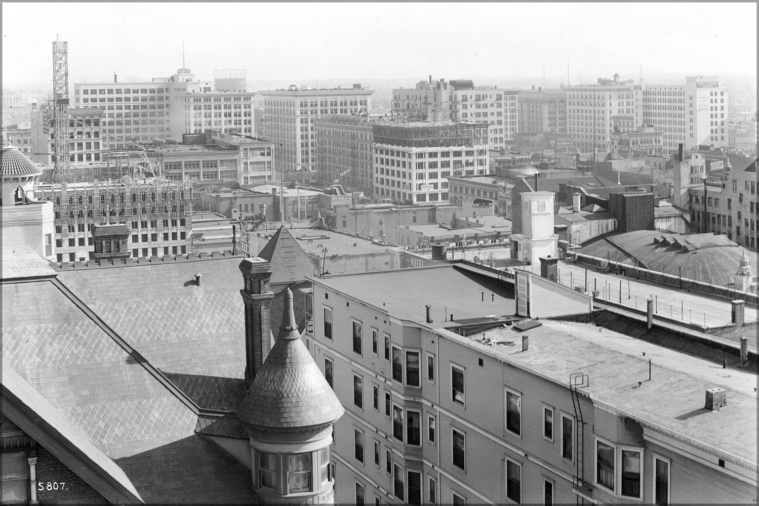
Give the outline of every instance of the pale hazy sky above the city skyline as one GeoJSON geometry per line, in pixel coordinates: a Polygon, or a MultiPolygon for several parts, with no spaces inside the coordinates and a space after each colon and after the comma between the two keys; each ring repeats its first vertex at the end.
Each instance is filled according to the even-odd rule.
{"type": "MultiPolygon", "coordinates": [[[[2,3],[3,86],[150,80],[185,64],[248,80],[756,75],[745,3],[2,3]]],[[[679,79],[678,79],[679,80],[679,79]]],[[[409,82],[412,85],[414,81],[409,82]]],[[[495,83],[494,83],[495,84],[495,83]]]]}

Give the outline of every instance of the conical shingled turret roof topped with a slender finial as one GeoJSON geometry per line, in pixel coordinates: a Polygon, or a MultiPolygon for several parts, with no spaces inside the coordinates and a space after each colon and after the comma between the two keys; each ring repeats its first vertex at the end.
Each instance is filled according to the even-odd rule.
{"type": "Polygon", "coordinates": [[[262,429],[296,429],[335,422],[342,413],[342,404],[301,341],[287,288],[279,335],[238,407],[238,418],[262,429]]]}

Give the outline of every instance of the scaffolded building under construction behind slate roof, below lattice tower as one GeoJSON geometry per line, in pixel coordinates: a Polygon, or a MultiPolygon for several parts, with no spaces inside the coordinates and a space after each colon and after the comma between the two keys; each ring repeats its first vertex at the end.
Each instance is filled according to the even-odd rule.
{"type": "Polygon", "coordinates": [[[192,253],[189,184],[171,181],[39,185],[37,200],[53,203],[58,262],[83,262],[95,251],[93,225],[131,225],[133,257],[192,253]]]}

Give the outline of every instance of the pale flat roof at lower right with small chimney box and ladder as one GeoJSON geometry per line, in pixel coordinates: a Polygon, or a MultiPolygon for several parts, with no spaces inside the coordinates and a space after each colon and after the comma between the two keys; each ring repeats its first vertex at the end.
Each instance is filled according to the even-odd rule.
{"type": "MultiPolygon", "coordinates": [[[[567,385],[572,372],[584,372],[590,377],[590,386],[581,390],[587,391],[594,403],[713,448],[725,457],[756,465],[757,398],[753,373],[730,369],[726,374],[725,369],[707,360],[592,324],[540,322],[539,327],[524,332],[530,336],[527,351],[455,338],[468,339],[483,353],[561,385],[567,385]],[[728,404],[708,411],[704,409],[704,392],[715,387],[727,391],[728,404]]],[[[521,333],[509,327],[486,332],[485,338],[515,341],[521,333]]]]}

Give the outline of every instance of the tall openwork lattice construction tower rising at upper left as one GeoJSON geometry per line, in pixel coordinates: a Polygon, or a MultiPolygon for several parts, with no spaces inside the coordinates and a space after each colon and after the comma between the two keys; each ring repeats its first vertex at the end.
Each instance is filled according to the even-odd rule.
{"type": "Polygon", "coordinates": [[[52,98],[55,151],[54,176],[66,178],[68,153],[68,42],[52,43],[52,98]]]}

